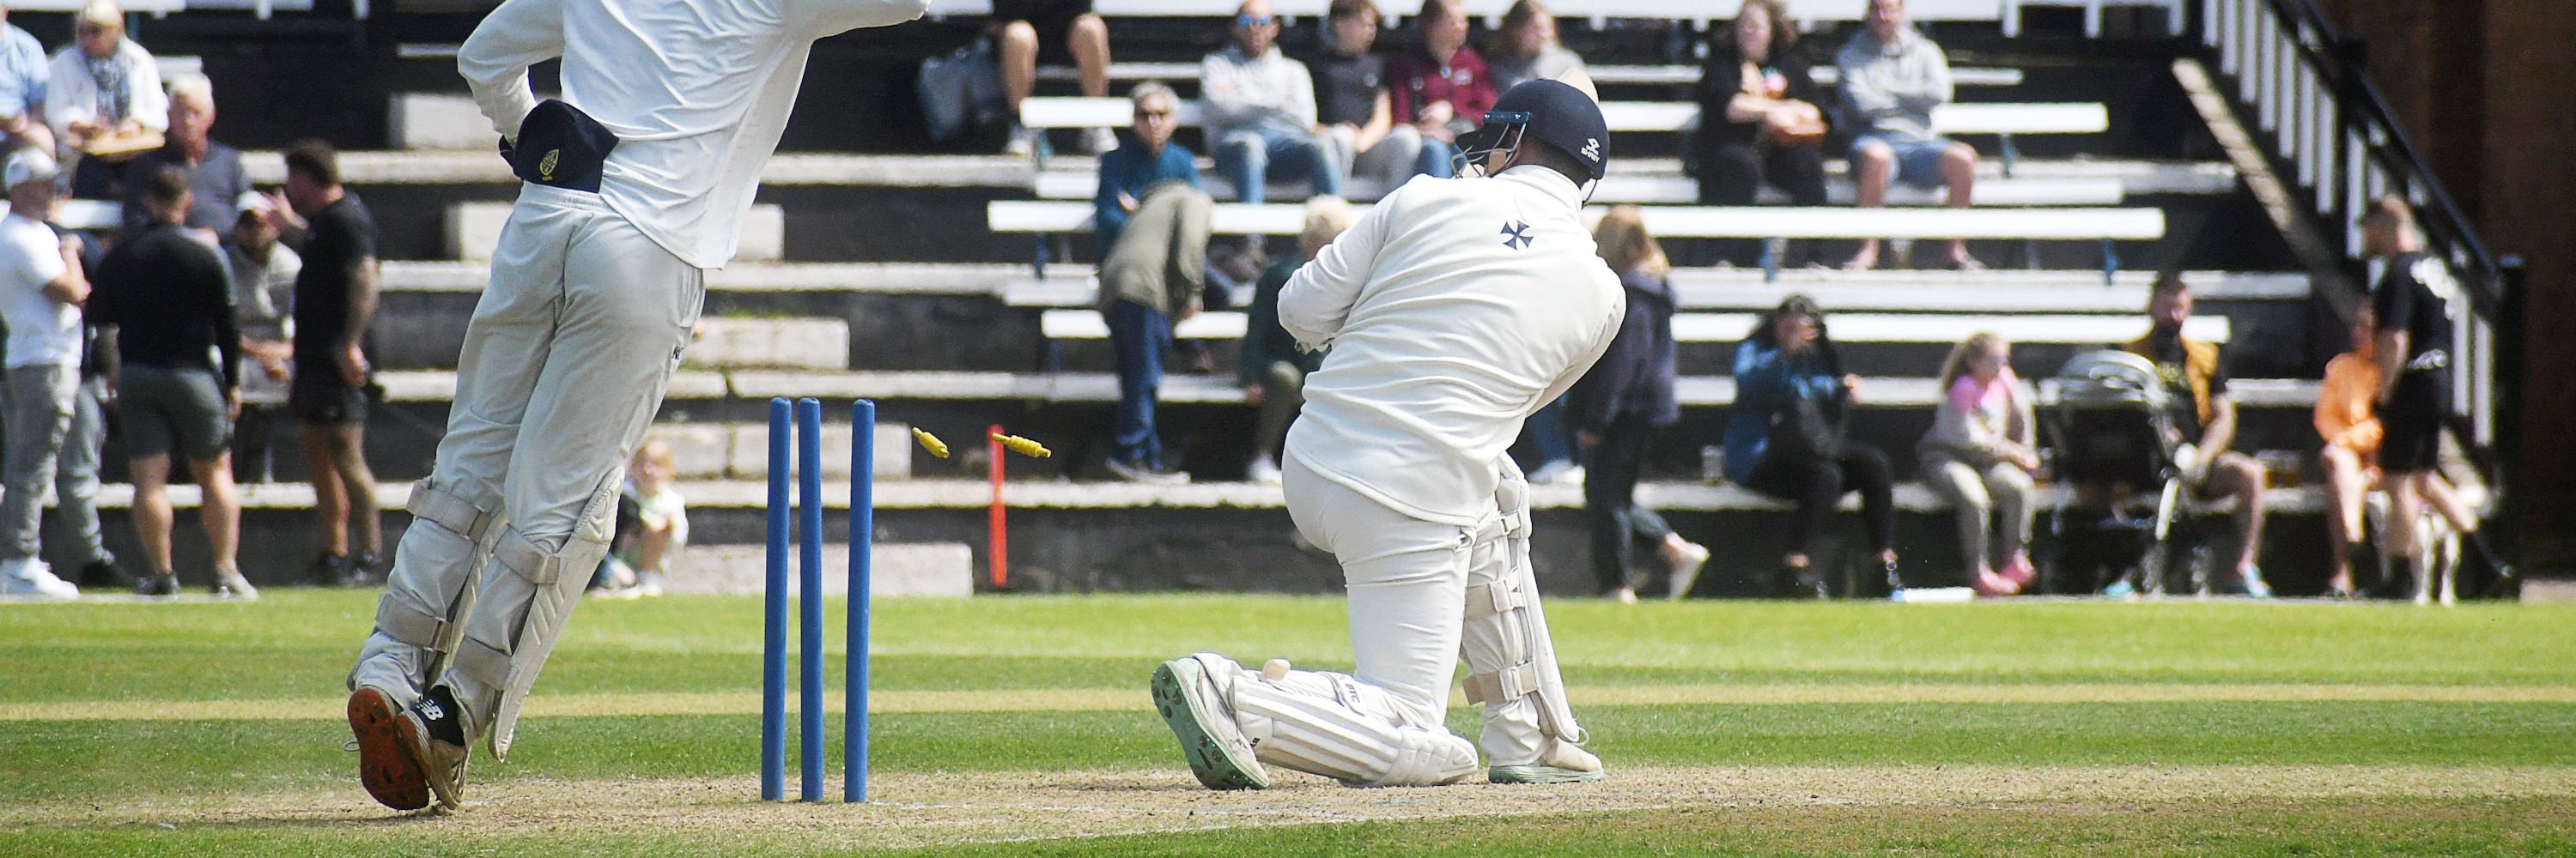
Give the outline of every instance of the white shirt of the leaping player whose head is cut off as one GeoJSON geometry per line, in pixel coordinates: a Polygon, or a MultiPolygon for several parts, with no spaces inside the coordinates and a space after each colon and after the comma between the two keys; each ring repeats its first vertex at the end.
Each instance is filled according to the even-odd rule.
{"type": "Polygon", "coordinates": [[[564,100],[618,134],[600,198],[698,268],[724,268],[814,39],[920,18],[927,0],[505,0],[456,54],[492,129],[536,108],[528,67],[564,57],[564,100]]]}

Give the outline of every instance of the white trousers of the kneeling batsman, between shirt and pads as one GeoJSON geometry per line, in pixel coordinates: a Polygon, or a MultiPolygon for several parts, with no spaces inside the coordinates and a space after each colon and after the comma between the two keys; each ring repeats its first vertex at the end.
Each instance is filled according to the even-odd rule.
{"type": "MultiPolygon", "coordinates": [[[[1476,667],[1525,657],[1520,649],[1528,642],[1502,634],[1492,621],[1466,629],[1468,577],[1510,580],[1507,544],[1479,541],[1479,528],[1388,510],[1324,479],[1296,453],[1285,459],[1280,487],[1288,495],[1288,515],[1306,541],[1342,562],[1350,590],[1352,678],[1383,688],[1401,709],[1404,727],[1445,729],[1461,647],[1476,667]]],[[[1535,696],[1484,706],[1484,734],[1476,745],[1484,747],[1486,765],[1538,760],[1543,739],[1535,696]]]]}

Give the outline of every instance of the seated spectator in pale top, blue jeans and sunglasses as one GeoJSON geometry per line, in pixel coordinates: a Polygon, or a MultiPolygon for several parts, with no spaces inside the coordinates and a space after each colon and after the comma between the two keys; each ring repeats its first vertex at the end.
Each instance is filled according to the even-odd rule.
{"type": "Polygon", "coordinates": [[[1314,77],[1278,49],[1280,18],[1270,0],[1244,0],[1234,10],[1234,44],[1198,64],[1208,103],[1208,139],[1216,173],[1234,183],[1234,198],[1267,198],[1270,165],[1306,170],[1314,193],[1342,193],[1332,137],[1316,124],[1314,77]]]}

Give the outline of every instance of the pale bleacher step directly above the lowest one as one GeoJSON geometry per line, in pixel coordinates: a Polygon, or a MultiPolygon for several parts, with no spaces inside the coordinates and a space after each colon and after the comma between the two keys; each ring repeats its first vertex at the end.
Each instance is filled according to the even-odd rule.
{"type": "MultiPolygon", "coordinates": [[[[384,371],[386,399],[392,402],[448,402],[456,397],[453,371],[384,371]]],[[[1932,407],[1935,379],[1924,376],[1870,376],[1862,379],[1862,407],[1932,407]]],[[[2311,379],[2233,379],[2228,392],[2246,407],[2313,407],[2316,381],[2311,379]]],[[[2040,384],[2048,394],[2053,386],[2040,384]]],[[[1682,376],[1677,394],[1687,407],[1721,407],[1736,402],[1731,376],[1682,376]]],[[[1020,402],[1118,402],[1115,374],[981,374],[981,371],[842,371],[842,374],[791,374],[791,371],[683,371],[672,379],[665,399],[1020,399],[1020,402]]],[[[1162,402],[1190,405],[1242,405],[1244,389],[1224,376],[1162,379],[1162,402]]],[[[685,425],[685,423],[670,423],[685,425]]],[[[657,425],[662,430],[662,425],[657,425]]],[[[762,428],[765,433],[765,428],[762,428]]],[[[768,435],[762,435],[768,438],[768,435]]],[[[848,451],[848,446],[842,446],[848,451]]],[[[884,461],[886,448],[878,446],[884,461]]],[[[829,453],[824,459],[832,459],[829,453]]]]}

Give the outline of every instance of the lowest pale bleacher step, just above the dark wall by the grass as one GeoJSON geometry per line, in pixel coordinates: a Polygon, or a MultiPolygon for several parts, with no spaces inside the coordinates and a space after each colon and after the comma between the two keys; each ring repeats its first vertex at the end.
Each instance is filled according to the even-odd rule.
{"type": "MultiPolygon", "coordinates": [[[[250,510],[309,510],[312,484],[301,482],[268,482],[245,484],[242,508],[250,510]]],[[[724,482],[677,482],[680,497],[688,497],[690,510],[760,510],[768,505],[765,479],[724,479],[724,482]]],[[[2287,515],[2316,515],[2324,510],[2324,487],[2285,487],[2267,490],[2264,508],[2287,515]]],[[[381,482],[376,484],[376,502],[386,510],[399,510],[412,497],[410,482],[381,482]]],[[[827,479],[824,490],[827,510],[850,508],[850,484],[827,479]]],[[[884,479],[873,490],[878,510],[981,510],[992,505],[992,484],[984,479],[884,479]]],[[[173,508],[196,508],[201,500],[193,484],[173,484],[173,508]]],[[[2053,510],[2066,505],[2071,492],[2063,487],[2043,487],[2038,497],[2040,510],[2053,510]]],[[[1654,510],[1698,510],[1698,513],[1726,513],[1726,510],[1790,510],[1788,502],[1767,495],[1757,495],[1739,484],[1708,484],[1708,482],[1680,482],[1680,479],[1654,479],[1636,484],[1636,502],[1654,510]]],[[[98,505],[111,510],[126,510],[134,505],[131,484],[103,484],[98,487],[98,505]]],[[[1247,508],[1247,510],[1278,510],[1285,505],[1280,487],[1260,482],[1190,482],[1190,484],[1139,484],[1139,482],[1041,482],[1041,479],[1010,479],[1002,482],[1002,505],[1010,508],[1051,508],[1051,510],[1123,510],[1123,508],[1247,508]]],[[[1584,505],[1584,490],[1579,484],[1533,484],[1530,508],[1538,510],[1579,510],[1584,505]]],[[[1860,497],[1850,495],[1842,502],[1844,510],[1857,510],[1860,497]]],[[[1945,513],[1950,502],[1919,482],[1896,484],[1896,508],[1906,513],[1945,513]]],[[[2223,508],[2223,505],[2210,505],[2223,508]]]]}

